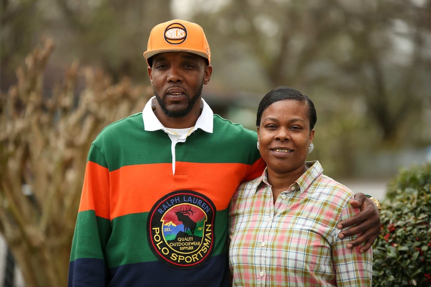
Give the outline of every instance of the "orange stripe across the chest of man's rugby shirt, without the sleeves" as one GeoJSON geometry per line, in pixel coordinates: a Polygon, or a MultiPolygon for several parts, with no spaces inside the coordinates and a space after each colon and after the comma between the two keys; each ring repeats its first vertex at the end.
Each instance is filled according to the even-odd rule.
{"type": "Polygon", "coordinates": [[[202,193],[212,199],[217,210],[226,209],[250,168],[239,163],[176,162],[172,175],[170,163],[124,166],[110,174],[111,219],[148,212],[160,194],[175,190],[202,193]]]}

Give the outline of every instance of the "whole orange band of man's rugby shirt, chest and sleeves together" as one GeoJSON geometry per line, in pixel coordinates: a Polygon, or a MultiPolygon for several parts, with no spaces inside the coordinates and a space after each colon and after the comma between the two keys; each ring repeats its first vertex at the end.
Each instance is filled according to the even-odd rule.
{"type": "Polygon", "coordinates": [[[260,176],[262,163],[176,162],[172,175],[170,163],[123,166],[109,174],[106,168],[88,162],[79,211],[94,210],[106,219],[148,212],[160,194],[175,190],[202,193],[212,199],[217,210],[223,210],[239,183],[260,176]]]}

